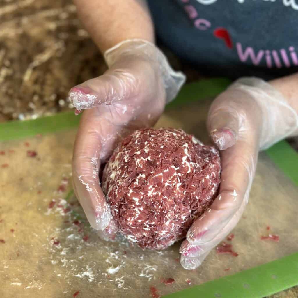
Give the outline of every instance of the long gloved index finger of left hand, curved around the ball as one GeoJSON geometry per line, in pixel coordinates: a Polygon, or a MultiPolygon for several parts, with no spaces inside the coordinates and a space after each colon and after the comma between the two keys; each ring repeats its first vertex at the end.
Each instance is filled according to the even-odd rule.
{"type": "Polygon", "coordinates": [[[100,188],[101,140],[96,127],[92,125],[90,114],[89,111],[83,114],[77,133],[72,160],[73,181],[90,225],[103,230],[111,220],[111,212],[100,188]]]}

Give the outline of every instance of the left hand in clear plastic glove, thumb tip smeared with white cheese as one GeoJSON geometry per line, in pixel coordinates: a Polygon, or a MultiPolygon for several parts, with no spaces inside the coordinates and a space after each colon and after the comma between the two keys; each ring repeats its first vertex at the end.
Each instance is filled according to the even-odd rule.
{"type": "Polygon", "coordinates": [[[113,239],[117,227],[100,187],[99,170],[119,140],[153,125],[184,83],[153,44],[127,40],[104,54],[109,69],[69,91],[83,112],[72,160],[75,194],[94,229],[113,239]]]}

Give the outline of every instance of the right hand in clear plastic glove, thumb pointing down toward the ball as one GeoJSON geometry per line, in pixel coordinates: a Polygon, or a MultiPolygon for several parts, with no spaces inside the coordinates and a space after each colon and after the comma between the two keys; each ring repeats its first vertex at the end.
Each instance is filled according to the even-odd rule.
{"type": "Polygon", "coordinates": [[[241,78],[212,103],[207,129],[221,151],[221,185],[209,209],[181,245],[181,265],[195,269],[237,225],[248,202],[259,150],[298,129],[298,115],[282,94],[254,77],[241,78]]]}

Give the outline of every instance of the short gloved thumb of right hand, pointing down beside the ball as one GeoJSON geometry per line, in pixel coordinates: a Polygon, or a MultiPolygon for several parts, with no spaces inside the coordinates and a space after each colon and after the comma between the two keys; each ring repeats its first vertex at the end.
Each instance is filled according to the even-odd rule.
{"type": "Polygon", "coordinates": [[[219,95],[212,103],[207,120],[209,135],[219,150],[233,146],[240,128],[243,128],[243,109],[233,100],[237,94],[219,95]],[[232,98],[231,98],[232,97],[232,98]]]}

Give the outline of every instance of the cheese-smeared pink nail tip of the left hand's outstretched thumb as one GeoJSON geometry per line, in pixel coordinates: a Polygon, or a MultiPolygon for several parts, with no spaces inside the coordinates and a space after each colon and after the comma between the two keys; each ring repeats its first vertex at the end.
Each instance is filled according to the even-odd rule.
{"type": "Polygon", "coordinates": [[[70,102],[78,111],[92,108],[94,101],[97,99],[94,90],[80,85],[70,89],[68,96],[70,102]]]}

